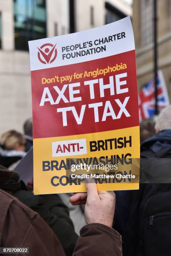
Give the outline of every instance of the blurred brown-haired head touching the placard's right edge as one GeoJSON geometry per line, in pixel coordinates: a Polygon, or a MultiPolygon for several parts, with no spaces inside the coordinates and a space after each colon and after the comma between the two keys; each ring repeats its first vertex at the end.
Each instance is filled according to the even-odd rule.
{"type": "Polygon", "coordinates": [[[144,119],[140,122],[140,143],[155,134],[155,122],[153,118],[144,119]]]}

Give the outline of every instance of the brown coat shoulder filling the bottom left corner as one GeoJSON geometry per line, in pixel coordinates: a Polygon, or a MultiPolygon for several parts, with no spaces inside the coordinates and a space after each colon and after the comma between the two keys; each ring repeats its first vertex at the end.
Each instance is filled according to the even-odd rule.
{"type": "Polygon", "coordinates": [[[40,215],[1,189],[0,247],[29,247],[30,254],[26,255],[31,256],[65,255],[59,240],[40,215]]]}

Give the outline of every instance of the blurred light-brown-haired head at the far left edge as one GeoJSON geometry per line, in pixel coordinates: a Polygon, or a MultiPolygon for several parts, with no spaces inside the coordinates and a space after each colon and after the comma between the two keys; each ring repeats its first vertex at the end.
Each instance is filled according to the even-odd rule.
{"type": "Polygon", "coordinates": [[[26,139],[21,133],[11,130],[1,136],[0,144],[6,150],[25,151],[26,139]]]}

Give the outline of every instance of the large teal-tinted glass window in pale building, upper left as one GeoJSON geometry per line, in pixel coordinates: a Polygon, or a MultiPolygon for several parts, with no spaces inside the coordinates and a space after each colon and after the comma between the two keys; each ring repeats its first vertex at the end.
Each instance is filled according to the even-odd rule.
{"type": "Polygon", "coordinates": [[[46,37],[46,0],[14,0],[15,49],[46,37]]]}

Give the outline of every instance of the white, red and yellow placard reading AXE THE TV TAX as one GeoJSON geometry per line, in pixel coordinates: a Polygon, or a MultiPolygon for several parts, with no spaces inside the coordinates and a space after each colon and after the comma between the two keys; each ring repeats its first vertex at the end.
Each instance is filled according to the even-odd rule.
{"type": "Polygon", "coordinates": [[[34,194],[83,192],[85,175],[97,163],[113,164],[114,175],[95,177],[99,190],[138,189],[138,163],[127,168],[128,159],[140,157],[130,17],[30,41],[29,51],[34,194]]]}

